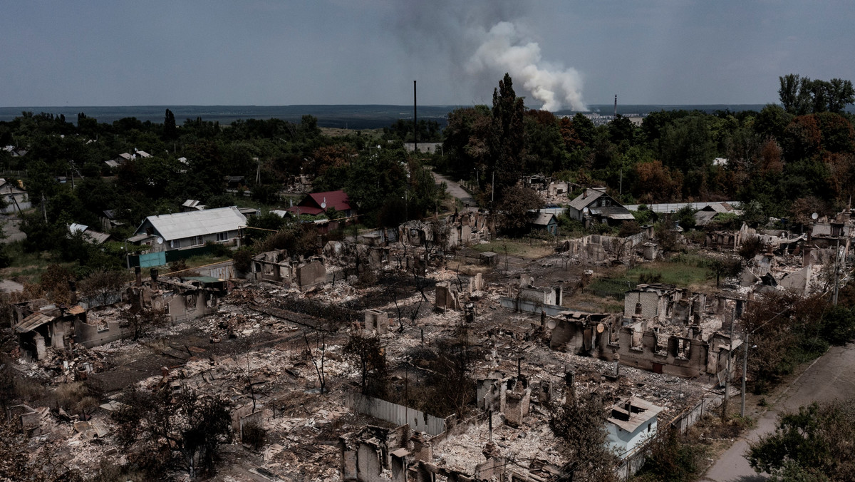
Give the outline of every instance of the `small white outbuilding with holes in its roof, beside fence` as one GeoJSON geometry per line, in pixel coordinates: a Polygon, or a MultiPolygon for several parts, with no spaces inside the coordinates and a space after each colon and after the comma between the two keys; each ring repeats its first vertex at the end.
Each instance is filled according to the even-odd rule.
{"type": "Polygon", "coordinates": [[[617,402],[605,420],[607,441],[618,455],[626,456],[635,447],[656,435],[657,414],[662,407],[636,396],[617,402]]]}

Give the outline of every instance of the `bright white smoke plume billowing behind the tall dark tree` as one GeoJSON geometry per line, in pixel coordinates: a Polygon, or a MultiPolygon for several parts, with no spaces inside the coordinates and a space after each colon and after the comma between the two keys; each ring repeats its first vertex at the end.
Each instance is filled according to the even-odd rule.
{"type": "Polygon", "coordinates": [[[587,110],[582,102],[581,75],[575,68],[561,68],[540,56],[540,45],[524,39],[509,21],[500,21],[489,32],[469,59],[467,71],[480,74],[485,70],[507,72],[519,85],[543,103],[543,110],[587,110]]]}

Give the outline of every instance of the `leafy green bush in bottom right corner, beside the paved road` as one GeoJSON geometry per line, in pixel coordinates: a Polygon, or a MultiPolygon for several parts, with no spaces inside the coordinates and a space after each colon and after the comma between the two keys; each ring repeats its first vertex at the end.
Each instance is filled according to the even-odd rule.
{"type": "Polygon", "coordinates": [[[749,445],[746,458],[754,470],[777,480],[799,473],[818,480],[855,480],[855,401],[835,400],[781,414],[775,431],[749,445]]]}

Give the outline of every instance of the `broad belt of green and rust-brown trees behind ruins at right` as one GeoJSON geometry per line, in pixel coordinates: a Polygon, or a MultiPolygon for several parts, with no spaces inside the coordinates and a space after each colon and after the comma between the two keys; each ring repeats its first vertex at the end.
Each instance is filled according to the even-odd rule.
{"type": "MultiPolygon", "coordinates": [[[[781,104],[762,110],[660,110],[640,125],[527,110],[509,76],[492,108],[453,110],[439,167],[497,198],[520,176],[542,173],[609,187],[628,204],[756,201],[764,216],[804,222],[845,206],[855,191],[849,80],[781,77],[781,104]],[[717,159],[720,159],[716,161],[717,159]],[[495,181],[493,181],[495,178],[495,181]]],[[[486,204],[486,202],[485,202],[486,204]]]]}

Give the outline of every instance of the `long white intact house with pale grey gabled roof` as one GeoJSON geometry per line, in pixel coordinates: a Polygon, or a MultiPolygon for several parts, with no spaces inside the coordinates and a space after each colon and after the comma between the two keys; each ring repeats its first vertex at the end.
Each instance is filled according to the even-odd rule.
{"type": "Polygon", "coordinates": [[[127,241],[149,246],[153,252],[172,251],[206,242],[237,242],[245,227],[246,217],[235,206],[174,212],[146,217],[127,241]]]}

